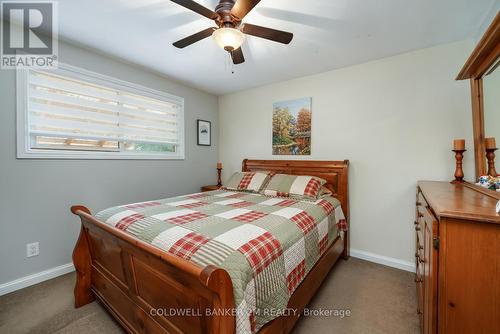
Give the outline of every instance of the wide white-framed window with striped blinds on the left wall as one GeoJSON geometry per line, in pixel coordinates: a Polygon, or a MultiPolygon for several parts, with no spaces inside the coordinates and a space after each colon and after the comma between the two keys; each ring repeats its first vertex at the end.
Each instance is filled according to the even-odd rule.
{"type": "Polygon", "coordinates": [[[17,72],[18,158],[183,159],[184,100],[59,64],[17,72]]]}

